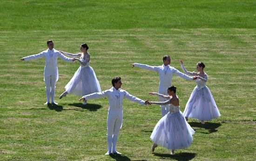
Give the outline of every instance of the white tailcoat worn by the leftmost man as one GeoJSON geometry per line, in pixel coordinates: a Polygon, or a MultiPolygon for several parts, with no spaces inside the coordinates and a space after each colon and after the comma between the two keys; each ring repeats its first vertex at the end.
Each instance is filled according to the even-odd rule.
{"type": "MultiPolygon", "coordinates": [[[[45,67],[44,67],[44,80],[45,77],[48,77],[50,75],[57,75],[57,80],[59,79],[59,72],[57,67],[57,59],[60,57],[62,60],[73,62],[72,58],[68,58],[61,54],[59,51],[49,48],[45,51],[42,51],[39,54],[30,55],[27,57],[24,57],[24,60],[32,60],[32,59],[38,59],[41,57],[45,57],[45,67]],[[53,53],[53,56],[50,56],[50,53],[53,53]]],[[[57,81],[56,80],[56,81],[57,81]]]]}

